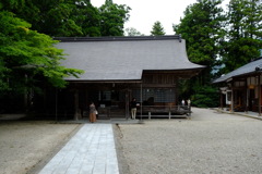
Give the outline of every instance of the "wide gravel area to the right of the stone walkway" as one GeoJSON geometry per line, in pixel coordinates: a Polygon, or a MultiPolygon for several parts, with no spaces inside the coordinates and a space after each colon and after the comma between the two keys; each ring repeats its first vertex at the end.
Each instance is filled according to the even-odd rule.
{"type": "Polygon", "coordinates": [[[261,174],[262,121],[195,109],[191,120],[116,126],[123,174],[261,174]]]}

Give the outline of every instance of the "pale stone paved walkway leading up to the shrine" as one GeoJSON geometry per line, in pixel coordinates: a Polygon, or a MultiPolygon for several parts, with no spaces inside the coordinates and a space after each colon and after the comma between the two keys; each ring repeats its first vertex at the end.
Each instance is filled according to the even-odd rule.
{"type": "Polygon", "coordinates": [[[39,174],[119,174],[111,124],[85,124],[39,174]]]}

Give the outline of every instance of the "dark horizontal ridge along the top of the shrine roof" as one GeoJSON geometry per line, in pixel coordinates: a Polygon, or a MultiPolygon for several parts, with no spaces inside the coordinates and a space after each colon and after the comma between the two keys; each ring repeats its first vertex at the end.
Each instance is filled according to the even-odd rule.
{"type": "Polygon", "coordinates": [[[53,37],[55,40],[62,42],[70,41],[127,41],[127,40],[174,40],[181,42],[181,35],[164,36],[107,36],[107,37],[53,37]]]}

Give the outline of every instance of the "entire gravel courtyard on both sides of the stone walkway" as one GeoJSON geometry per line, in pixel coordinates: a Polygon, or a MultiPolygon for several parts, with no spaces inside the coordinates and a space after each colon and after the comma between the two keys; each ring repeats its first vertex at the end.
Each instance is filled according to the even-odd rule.
{"type": "MultiPolygon", "coordinates": [[[[192,111],[191,120],[114,125],[121,174],[262,173],[262,121],[192,111]]],[[[0,174],[36,173],[81,126],[0,122],[0,174]]]]}

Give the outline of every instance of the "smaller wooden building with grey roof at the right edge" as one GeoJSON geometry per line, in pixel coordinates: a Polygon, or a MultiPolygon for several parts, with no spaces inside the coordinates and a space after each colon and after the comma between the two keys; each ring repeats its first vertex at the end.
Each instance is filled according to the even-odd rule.
{"type": "Polygon", "coordinates": [[[231,112],[258,112],[262,105],[262,58],[259,58],[222,77],[214,84],[221,86],[221,108],[231,112]]]}

